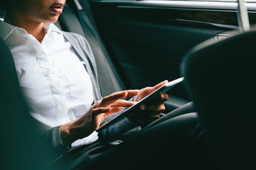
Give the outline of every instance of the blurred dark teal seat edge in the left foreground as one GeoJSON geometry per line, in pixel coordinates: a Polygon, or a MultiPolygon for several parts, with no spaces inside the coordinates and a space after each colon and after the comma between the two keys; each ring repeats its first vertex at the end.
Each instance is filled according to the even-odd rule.
{"type": "Polygon", "coordinates": [[[0,79],[0,169],[45,170],[46,152],[20,91],[11,52],[2,41],[0,79]]]}

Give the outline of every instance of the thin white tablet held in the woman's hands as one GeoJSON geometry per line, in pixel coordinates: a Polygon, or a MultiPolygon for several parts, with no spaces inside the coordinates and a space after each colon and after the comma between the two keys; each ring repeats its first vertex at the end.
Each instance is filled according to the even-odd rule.
{"type": "Polygon", "coordinates": [[[175,80],[173,80],[171,82],[168,82],[168,83],[162,85],[161,87],[157,88],[155,91],[153,91],[152,93],[150,93],[149,95],[147,95],[146,97],[141,99],[137,104],[134,104],[134,105],[130,106],[128,109],[126,109],[120,115],[114,117],[110,121],[108,121],[105,124],[101,125],[96,130],[96,132],[99,132],[99,131],[101,131],[103,129],[106,129],[107,127],[111,126],[112,124],[115,124],[117,121],[123,119],[128,113],[132,112],[133,110],[137,110],[139,108],[139,106],[141,106],[142,104],[146,104],[147,102],[152,101],[160,93],[166,93],[167,91],[169,91],[171,88],[173,88],[174,86],[176,86],[177,84],[179,84],[183,80],[184,80],[184,77],[180,77],[178,79],[175,79],[175,80]]]}

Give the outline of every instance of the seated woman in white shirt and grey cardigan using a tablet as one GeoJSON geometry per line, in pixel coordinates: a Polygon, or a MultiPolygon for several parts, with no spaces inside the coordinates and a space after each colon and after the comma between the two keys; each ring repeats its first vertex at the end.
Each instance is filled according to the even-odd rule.
{"type": "MultiPolygon", "coordinates": [[[[123,169],[134,166],[152,168],[159,167],[159,162],[150,154],[163,155],[168,150],[173,152],[168,159],[173,160],[174,167],[180,167],[182,159],[200,162],[203,167],[207,163],[203,155],[208,150],[197,115],[191,113],[169,119],[170,113],[158,119],[165,110],[167,94],[159,95],[153,102],[141,106],[140,110],[99,134],[95,132],[104,120],[115,117],[125,109],[123,107],[132,106],[168,81],[102,98],[90,45],[82,36],[60,31],[53,24],[62,13],[64,4],[65,0],[7,0],[4,22],[0,22],[0,37],[13,55],[29,113],[38,121],[47,147],[54,151],[51,156],[62,156],[49,167],[109,169],[119,165],[123,169]],[[85,62],[85,69],[80,59],[85,62]],[[132,98],[123,100],[126,97],[132,98]],[[181,120],[182,124],[179,123],[181,120]],[[103,150],[97,150],[98,155],[90,157],[89,151],[101,146],[100,141],[119,139],[125,132],[133,128],[140,130],[142,124],[152,121],[153,124],[121,144],[111,147],[104,144],[103,150]],[[180,147],[173,148],[176,144],[180,147]],[[197,157],[186,155],[187,150],[193,153],[193,149],[200,150],[197,157]],[[113,155],[117,157],[110,157],[113,155]]],[[[161,164],[164,167],[170,163],[161,164]]]]}

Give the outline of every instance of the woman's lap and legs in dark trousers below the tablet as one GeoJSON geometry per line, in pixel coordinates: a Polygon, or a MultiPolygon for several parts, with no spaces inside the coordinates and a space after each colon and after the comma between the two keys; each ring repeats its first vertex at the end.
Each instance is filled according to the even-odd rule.
{"type": "MultiPolygon", "coordinates": [[[[213,160],[192,102],[157,119],[120,144],[96,143],[64,169],[210,169],[213,160]]],[[[77,155],[77,154],[76,154],[77,155]]]]}

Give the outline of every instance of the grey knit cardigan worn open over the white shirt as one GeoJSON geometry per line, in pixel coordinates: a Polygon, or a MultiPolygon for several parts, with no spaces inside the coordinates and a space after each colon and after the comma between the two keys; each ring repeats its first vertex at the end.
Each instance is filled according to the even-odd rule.
{"type": "MultiPolygon", "coordinates": [[[[69,33],[69,32],[63,31],[63,34],[64,34],[64,37],[72,44],[72,46],[74,47],[80,59],[82,59],[85,62],[85,69],[90,75],[92,86],[94,87],[93,88],[94,102],[96,102],[97,100],[101,100],[102,96],[99,88],[96,62],[94,60],[94,55],[92,53],[92,49],[88,41],[83,36],[76,33],[69,33]]],[[[120,114],[125,109],[126,108],[121,110],[119,113],[108,116],[103,121],[103,123],[112,119],[117,114],[120,114]]],[[[128,130],[139,126],[140,124],[141,122],[139,121],[124,118],[118,123],[99,132],[99,140],[108,141],[109,139],[117,137],[127,132],[128,130]]],[[[46,132],[44,132],[43,136],[45,137],[47,146],[50,148],[50,150],[52,151],[54,150],[54,154],[56,154],[56,156],[62,155],[68,150],[68,147],[62,144],[61,135],[60,135],[60,126],[56,126],[52,129],[47,130],[46,132]]]]}

